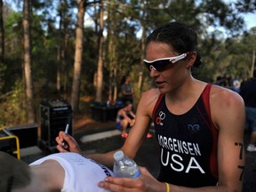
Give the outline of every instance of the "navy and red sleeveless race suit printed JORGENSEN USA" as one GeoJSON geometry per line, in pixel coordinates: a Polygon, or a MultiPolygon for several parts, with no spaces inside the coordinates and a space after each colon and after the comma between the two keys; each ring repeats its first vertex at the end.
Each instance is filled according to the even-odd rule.
{"type": "Polygon", "coordinates": [[[196,104],[185,114],[172,114],[160,94],[153,110],[160,147],[158,180],[197,188],[218,182],[218,130],[212,123],[207,84],[196,104]]]}

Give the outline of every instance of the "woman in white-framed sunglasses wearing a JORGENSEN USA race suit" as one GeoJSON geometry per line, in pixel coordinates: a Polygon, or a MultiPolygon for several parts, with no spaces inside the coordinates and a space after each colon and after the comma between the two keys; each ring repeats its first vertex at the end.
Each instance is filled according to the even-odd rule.
{"type": "MultiPolygon", "coordinates": [[[[134,158],[154,121],[159,143],[160,172],[156,179],[141,169],[139,179],[109,177],[100,182],[111,191],[242,191],[244,171],[244,102],[226,88],[192,76],[201,65],[193,28],[172,22],[147,38],[145,64],[156,83],[144,92],[135,124],[121,148],[134,158]]],[[[60,132],[69,150],[82,153],[74,138],[60,132]]],[[[113,164],[113,153],[92,154],[113,164]]]]}

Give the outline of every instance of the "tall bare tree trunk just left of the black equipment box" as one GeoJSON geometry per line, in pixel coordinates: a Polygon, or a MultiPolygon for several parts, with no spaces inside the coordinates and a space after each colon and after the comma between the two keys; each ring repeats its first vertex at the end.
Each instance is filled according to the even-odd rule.
{"type": "Polygon", "coordinates": [[[36,122],[35,111],[33,107],[34,91],[31,73],[31,52],[30,52],[30,23],[29,23],[29,0],[24,0],[23,4],[23,30],[24,30],[24,74],[26,83],[26,96],[28,108],[28,124],[36,122]]]}

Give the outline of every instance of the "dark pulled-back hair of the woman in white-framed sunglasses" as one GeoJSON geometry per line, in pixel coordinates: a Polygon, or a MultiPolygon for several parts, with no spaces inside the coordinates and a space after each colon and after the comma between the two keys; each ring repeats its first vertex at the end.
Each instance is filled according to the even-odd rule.
{"type": "Polygon", "coordinates": [[[160,28],[156,28],[148,37],[146,44],[160,42],[172,46],[175,52],[197,52],[193,67],[199,68],[202,64],[201,56],[196,49],[197,34],[194,28],[179,22],[171,22],[160,28]]]}

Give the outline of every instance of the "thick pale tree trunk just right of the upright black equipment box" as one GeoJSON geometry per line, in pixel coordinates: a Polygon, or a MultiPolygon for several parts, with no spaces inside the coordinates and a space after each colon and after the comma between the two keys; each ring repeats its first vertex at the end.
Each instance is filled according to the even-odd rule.
{"type": "Polygon", "coordinates": [[[80,79],[81,68],[83,59],[83,39],[84,39],[84,0],[77,0],[77,26],[76,26],[76,51],[74,63],[74,76],[71,92],[71,106],[76,112],[79,110],[79,97],[80,97],[80,79]]]}

